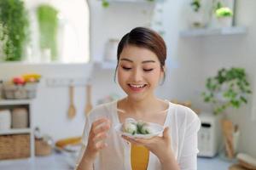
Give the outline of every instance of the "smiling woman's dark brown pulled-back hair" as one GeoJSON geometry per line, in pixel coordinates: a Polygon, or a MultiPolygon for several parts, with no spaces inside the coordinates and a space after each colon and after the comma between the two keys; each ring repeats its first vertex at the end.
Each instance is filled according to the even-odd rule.
{"type": "MultiPolygon", "coordinates": [[[[164,66],[166,65],[166,42],[162,37],[156,32],[145,27],[136,27],[130,32],[125,34],[119,42],[117,49],[117,59],[119,65],[120,54],[123,49],[128,45],[134,45],[141,48],[148,48],[160,61],[160,67],[164,71],[164,66]]],[[[117,67],[115,70],[114,77],[116,75],[117,67]]],[[[166,78],[166,73],[164,72],[164,80],[166,78]]]]}

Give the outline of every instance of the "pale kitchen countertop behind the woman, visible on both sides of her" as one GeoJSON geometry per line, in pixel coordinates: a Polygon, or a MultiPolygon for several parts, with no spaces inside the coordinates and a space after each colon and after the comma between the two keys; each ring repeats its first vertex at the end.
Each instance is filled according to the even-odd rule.
{"type": "MultiPolygon", "coordinates": [[[[198,170],[228,170],[230,162],[218,157],[198,158],[198,170]]],[[[60,153],[32,159],[0,161],[0,169],[8,170],[71,170],[67,157],[60,153]]]]}

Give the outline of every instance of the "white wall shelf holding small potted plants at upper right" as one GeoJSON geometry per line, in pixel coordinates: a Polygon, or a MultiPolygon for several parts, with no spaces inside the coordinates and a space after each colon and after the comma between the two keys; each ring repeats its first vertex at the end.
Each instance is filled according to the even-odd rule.
{"type": "Polygon", "coordinates": [[[246,27],[234,26],[224,28],[200,28],[191,29],[180,32],[180,37],[206,37],[206,36],[218,36],[218,35],[238,35],[245,34],[247,32],[246,27]]]}

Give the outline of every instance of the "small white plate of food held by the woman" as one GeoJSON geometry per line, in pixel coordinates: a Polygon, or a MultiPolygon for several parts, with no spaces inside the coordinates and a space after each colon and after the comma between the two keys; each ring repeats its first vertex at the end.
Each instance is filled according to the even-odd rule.
{"type": "Polygon", "coordinates": [[[135,138],[140,138],[140,139],[150,139],[153,138],[154,136],[160,136],[163,131],[164,131],[164,127],[160,126],[159,124],[153,123],[153,122],[148,122],[149,126],[152,127],[154,129],[154,133],[150,133],[150,134],[131,134],[131,133],[124,133],[122,131],[122,124],[118,123],[117,125],[114,126],[114,129],[120,133],[121,135],[125,135],[128,136],[132,139],[135,138]]]}

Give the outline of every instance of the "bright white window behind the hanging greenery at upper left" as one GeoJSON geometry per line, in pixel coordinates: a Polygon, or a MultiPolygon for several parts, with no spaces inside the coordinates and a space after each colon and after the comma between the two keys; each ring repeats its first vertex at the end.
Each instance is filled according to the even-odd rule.
{"type": "MultiPolygon", "coordinates": [[[[86,0],[26,0],[30,14],[31,41],[25,49],[26,61],[32,63],[87,63],[90,59],[90,13],[86,0]],[[52,48],[40,45],[44,32],[40,31],[38,7],[47,4],[57,11],[56,56],[52,57],[52,48]]],[[[42,24],[42,23],[41,23],[42,24]]],[[[47,32],[47,31],[46,31],[47,32]]],[[[47,33],[46,33],[47,34],[47,33]]],[[[49,35],[49,34],[48,34],[49,35]]],[[[47,43],[50,43],[47,42],[47,43]]]]}

